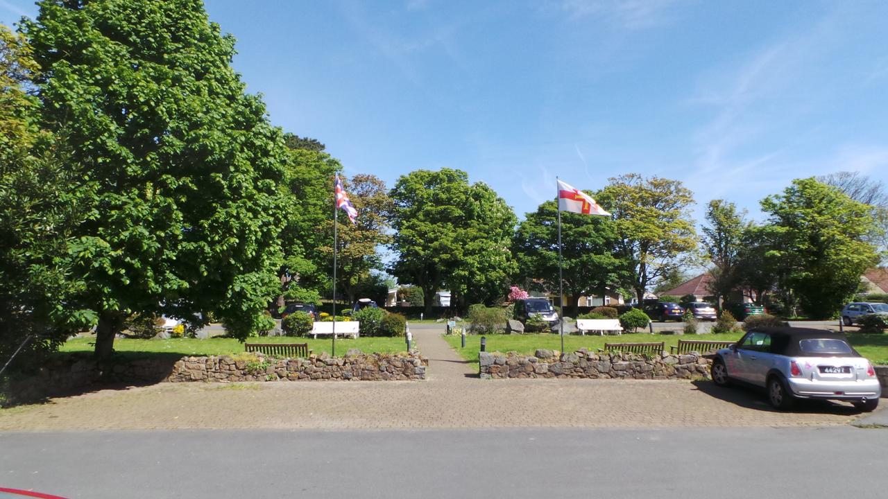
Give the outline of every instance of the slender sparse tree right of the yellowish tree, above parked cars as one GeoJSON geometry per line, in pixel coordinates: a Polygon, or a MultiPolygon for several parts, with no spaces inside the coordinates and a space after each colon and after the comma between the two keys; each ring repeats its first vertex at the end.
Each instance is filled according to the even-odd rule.
{"type": "Polygon", "coordinates": [[[703,226],[703,252],[713,265],[710,291],[716,297],[716,308],[721,311],[722,300],[740,283],[742,275],[740,255],[743,231],[749,226],[746,213],[737,210],[733,202],[714,199],[706,207],[707,225],[703,226]]]}

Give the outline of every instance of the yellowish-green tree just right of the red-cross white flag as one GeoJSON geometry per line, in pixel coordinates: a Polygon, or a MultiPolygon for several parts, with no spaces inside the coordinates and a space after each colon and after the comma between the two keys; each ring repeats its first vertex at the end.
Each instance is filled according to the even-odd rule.
{"type": "Polygon", "coordinates": [[[630,173],[610,178],[598,201],[614,217],[615,253],[628,265],[624,285],[635,291],[638,303],[648,284],[692,261],[694,195],[680,181],[630,173]]]}

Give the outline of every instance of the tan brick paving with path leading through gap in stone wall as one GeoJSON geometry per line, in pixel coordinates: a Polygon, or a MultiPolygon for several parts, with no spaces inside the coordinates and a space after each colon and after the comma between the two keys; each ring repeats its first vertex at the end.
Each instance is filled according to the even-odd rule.
{"type": "Polygon", "coordinates": [[[744,427],[847,424],[850,406],[769,408],[762,395],[710,382],[480,380],[440,337],[411,327],[429,358],[416,382],[163,383],[104,389],[0,410],[0,431],[744,427]]]}

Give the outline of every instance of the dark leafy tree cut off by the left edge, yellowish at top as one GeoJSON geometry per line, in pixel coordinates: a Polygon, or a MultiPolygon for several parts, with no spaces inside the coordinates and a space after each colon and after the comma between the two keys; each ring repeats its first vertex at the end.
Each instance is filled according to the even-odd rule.
{"type": "Polygon", "coordinates": [[[24,36],[0,25],[0,365],[50,352],[90,321],[63,306],[79,290],[67,244],[82,221],[67,151],[29,95],[39,67],[24,36]]]}

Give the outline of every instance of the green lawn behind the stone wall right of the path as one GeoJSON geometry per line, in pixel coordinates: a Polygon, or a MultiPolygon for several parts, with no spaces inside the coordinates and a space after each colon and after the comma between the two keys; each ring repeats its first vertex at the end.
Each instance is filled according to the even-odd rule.
{"type": "MultiPolygon", "coordinates": [[[[736,335],[699,335],[692,337],[693,339],[702,340],[720,340],[730,341],[740,339],[742,334],[736,335]]],[[[525,355],[532,355],[537,348],[548,348],[549,350],[560,350],[561,340],[559,335],[538,334],[538,335],[488,335],[488,352],[519,352],[525,355]]],[[[647,342],[665,342],[666,348],[670,345],[678,345],[681,338],[688,339],[681,335],[650,335],[650,334],[630,334],[622,336],[565,336],[564,349],[567,352],[575,352],[581,348],[595,351],[604,348],[606,343],[647,343],[647,342]]],[[[478,352],[480,352],[480,337],[465,337],[465,348],[460,348],[460,337],[456,335],[445,336],[448,344],[456,350],[465,360],[472,362],[473,368],[478,368],[478,352]]],[[[888,365],[888,335],[867,335],[867,334],[851,334],[848,335],[851,345],[860,352],[860,355],[868,358],[873,364],[888,365]]]]}

